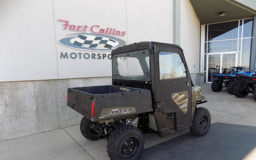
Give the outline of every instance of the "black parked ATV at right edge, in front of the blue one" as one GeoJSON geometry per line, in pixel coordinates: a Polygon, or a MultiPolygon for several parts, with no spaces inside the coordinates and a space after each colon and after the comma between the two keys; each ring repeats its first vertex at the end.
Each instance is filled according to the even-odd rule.
{"type": "Polygon", "coordinates": [[[256,75],[237,75],[235,79],[237,84],[234,86],[233,93],[236,97],[243,98],[249,93],[253,93],[254,100],[256,100],[256,75]]]}

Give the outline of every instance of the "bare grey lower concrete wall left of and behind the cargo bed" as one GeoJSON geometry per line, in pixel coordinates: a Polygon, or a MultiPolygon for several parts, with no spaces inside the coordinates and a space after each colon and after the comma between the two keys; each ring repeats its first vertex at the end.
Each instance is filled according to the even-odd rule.
{"type": "Polygon", "coordinates": [[[0,141],[79,124],[67,88],[110,84],[111,77],[0,83],[0,141]]]}

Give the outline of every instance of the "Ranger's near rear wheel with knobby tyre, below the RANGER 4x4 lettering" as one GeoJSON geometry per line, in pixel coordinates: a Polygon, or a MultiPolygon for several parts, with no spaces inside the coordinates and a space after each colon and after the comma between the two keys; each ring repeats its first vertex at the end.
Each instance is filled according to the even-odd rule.
{"type": "Polygon", "coordinates": [[[108,156],[111,160],[137,160],[144,149],[144,138],[133,125],[117,127],[109,136],[108,156]]]}

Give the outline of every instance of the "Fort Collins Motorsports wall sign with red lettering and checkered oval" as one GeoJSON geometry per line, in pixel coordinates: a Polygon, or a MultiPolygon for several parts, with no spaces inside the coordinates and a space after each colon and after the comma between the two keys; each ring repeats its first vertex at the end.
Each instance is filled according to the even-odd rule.
{"type": "Polygon", "coordinates": [[[77,50],[98,52],[98,53],[67,53],[61,52],[60,58],[85,58],[85,59],[110,59],[110,54],[99,53],[107,52],[115,49],[116,47],[126,44],[123,37],[126,35],[126,31],[116,30],[116,28],[101,28],[100,25],[72,25],[68,20],[58,19],[58,22],[62,24],[62,30],[75,31],[77,33],[71,33],[66,35],[58,41],[59,44],[64,45],[77,50]],[[90,31],[90,33],[87,33],[90,31]]]}

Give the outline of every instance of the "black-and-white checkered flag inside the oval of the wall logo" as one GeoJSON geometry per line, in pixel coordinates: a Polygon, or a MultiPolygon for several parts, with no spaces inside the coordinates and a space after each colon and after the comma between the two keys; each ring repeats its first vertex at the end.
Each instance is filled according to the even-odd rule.
{"type": "Polygon", "coordinates": [[[103,37],[95,37],[95,36],[83,36],[79,35],[77,38],[74,39],[73,42],[74,45],[77,46],[88,46],[89,48],[96,48],[99,44],[105,44],[105,48],[111,49],[113,46],[115,46],[116,41],[109,38],[103,38],[103,37]]]}

